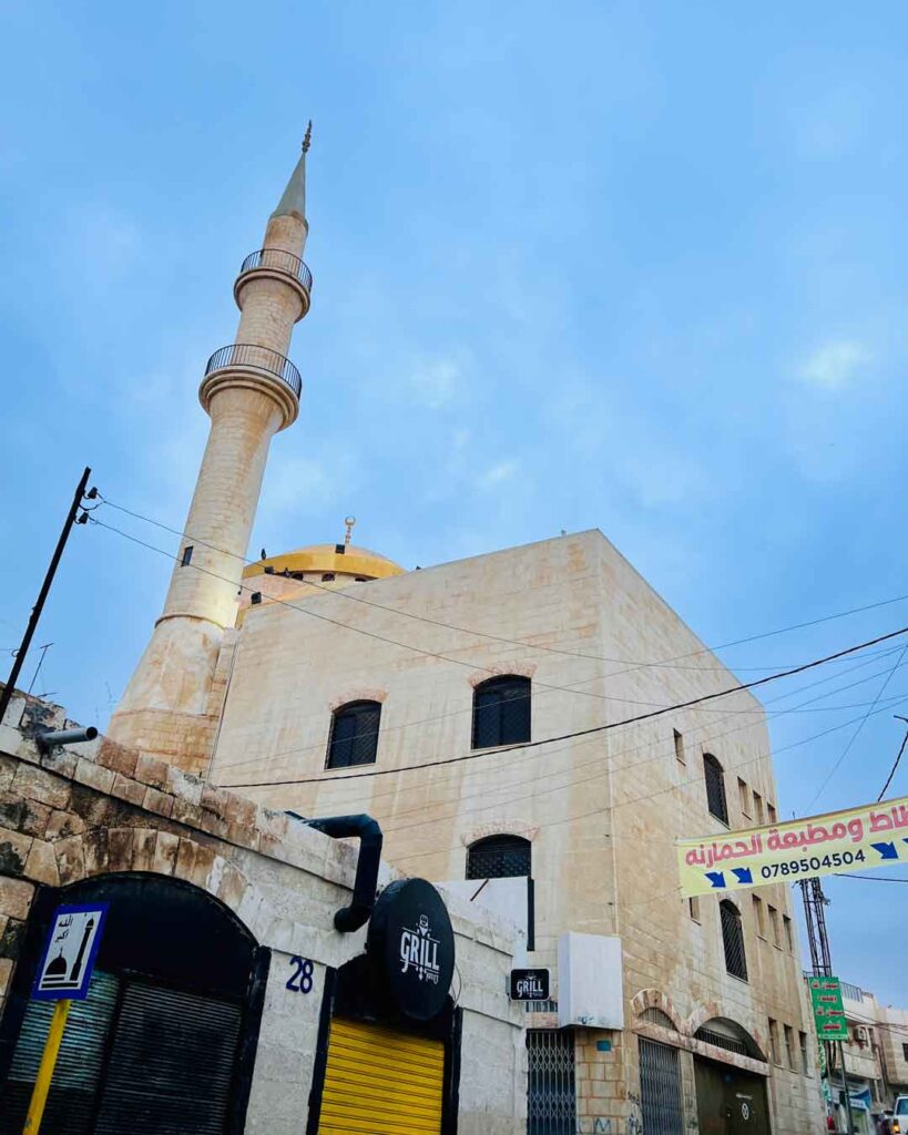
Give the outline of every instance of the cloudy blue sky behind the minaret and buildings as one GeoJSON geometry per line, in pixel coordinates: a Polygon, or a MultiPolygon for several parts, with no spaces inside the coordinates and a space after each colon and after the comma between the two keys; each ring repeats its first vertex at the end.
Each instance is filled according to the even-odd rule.
{"type": "MultiPolygon", "coordinates": [[[[599,527],[711,644],[908,592],[902,5],[0,11],[0,647],[84,464],[182,523],[199,377],[309,116],[304,397],[254,548],[334,540],[350,512],[407,566],[599,527]]],[[[35,691],[103,724],[167,575],[78,529],[35,691]]],[[[908,602],[723,656],[783,665],[905,623],[908,602]]],[[[897,659],[772,722],[782,814],[897,659]]],[[[876,797],[905,663],[810,810],[876,797]]],[[[908,892],[827,891],[836,968],[908,1004],[908,892]]]]}

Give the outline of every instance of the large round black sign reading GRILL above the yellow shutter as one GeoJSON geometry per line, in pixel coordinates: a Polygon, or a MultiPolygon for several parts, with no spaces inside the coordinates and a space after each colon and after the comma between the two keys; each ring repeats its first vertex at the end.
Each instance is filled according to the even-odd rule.
{"type": "Polygon", "coordinates": [[[402,878],[386,886],[369,922],[365,949],[402,1012],[431,1020],[442,1011],[454,975],[454,931],[431,883],[402,878]]]}

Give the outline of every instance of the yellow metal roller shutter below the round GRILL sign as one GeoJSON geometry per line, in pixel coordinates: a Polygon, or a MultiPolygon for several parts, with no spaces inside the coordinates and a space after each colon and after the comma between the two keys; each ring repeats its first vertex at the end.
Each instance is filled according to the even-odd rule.
{"type": "Polygon", "coordinates": [[[331,1020],[319,1135],[438,1135],[445,1045],[331,1020]]]}

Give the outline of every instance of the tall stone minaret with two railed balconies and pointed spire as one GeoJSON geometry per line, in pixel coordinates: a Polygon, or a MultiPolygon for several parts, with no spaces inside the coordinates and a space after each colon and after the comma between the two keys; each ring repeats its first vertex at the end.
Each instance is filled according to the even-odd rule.
{"type": "Polygon", "coordinates": [[[309,311],[302,261],[303,152],[264,233],[234,285],[236,343],[216,351],[199,388],[211,418],[185,536],[163,612],[111,717],[108,735],[186,772],[202,772],[217,723],[209,692],[224,631],[234,625],[244,557],[271,437],[300,409],[300,375],[286,358],[293,325],[309,311]]]}

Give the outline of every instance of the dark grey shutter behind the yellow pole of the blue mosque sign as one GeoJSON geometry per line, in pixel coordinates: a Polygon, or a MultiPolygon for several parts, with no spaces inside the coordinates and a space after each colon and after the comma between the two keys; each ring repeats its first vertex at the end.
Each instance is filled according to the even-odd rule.
{"type": "MultiPolygon", "coordinates": [[[[84,1001],[74,1001],[53,1071],[41,1135],[87,1135],[119,982],[95,969],[84,1001]]],[[[0,1091],[0,1135],[20,1135],[48,1039],[52,1001],[30,1001],[9,1076],[0,1091]]]]}

